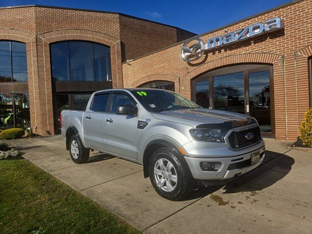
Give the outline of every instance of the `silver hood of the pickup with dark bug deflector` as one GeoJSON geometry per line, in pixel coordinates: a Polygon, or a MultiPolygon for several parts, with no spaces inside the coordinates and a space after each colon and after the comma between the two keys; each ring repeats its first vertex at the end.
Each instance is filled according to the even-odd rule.
{"type": "Polygon", "coordinates": [[[152,115],[156,119],[182,123],[198,129],[232,129],[257,122],[247,115],[206,108],[169,110],[152,115]]]}

